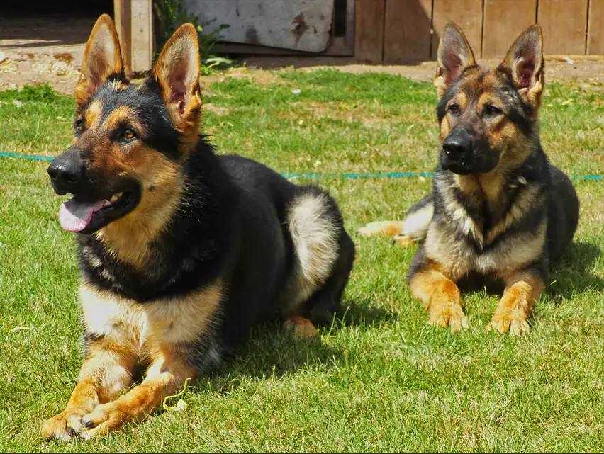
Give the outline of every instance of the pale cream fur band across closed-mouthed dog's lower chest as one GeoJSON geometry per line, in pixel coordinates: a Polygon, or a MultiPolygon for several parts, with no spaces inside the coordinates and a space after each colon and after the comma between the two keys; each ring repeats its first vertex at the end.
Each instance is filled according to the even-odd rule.
{"type": "MultiPolygon", "coordinates": [[[[457,222],[469,225],[471,221],[461,219],[457,222]]],[[[439,263],[442,271],[453,279],[460,278],[470,271],[503,276],[522,269],[539,257],[546,238],[546,227],[547,220],[544,219],[542,225],[534,232],[500,239],[496,246],[489,247],[479,254],[452,234],[442,232],[432,222],[427,232],[425,253],[429,259],[439,263]]],[[[469,234],[472,234],[471,230],[469,234]]]]}

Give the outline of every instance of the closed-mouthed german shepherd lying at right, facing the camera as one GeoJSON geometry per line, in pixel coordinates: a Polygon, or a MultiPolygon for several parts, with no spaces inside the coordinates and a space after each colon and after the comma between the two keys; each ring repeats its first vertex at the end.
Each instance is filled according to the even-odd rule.
{"type": "Polygon", "coordinates": [[[444,29],[434,79],[442,149],[432,194],[404,222],[359,230],[397,234],[399,244],[425,240],[408,283],[430,324],[466,328],[459,287],[487,285],[505,287],[491,328],[527,332],[549,264],[573,238],[576,192],[539,143],[543,64],[539,25],[527,28],[499,67],[488,70],[476,65],[457,25],[444,29]]]}

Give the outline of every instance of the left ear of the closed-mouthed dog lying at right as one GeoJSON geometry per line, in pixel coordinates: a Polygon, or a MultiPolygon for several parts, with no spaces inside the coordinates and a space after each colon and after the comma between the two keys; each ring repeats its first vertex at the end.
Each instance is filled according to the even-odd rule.
{"type": "Polygon", "coordinates": [[[457,80],[464,69],[476,66],[474,52],[464,32],[456,24],[448,22],[438,43],[436,76],[434,87],[442,98],[449,86],[457,80]]]}

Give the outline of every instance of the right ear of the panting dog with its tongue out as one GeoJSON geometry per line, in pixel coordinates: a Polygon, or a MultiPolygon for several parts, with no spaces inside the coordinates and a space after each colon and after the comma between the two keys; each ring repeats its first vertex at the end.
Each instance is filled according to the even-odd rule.
{"type": "Polygon", "coordinates": [[[160,84],[170,118],[180,132],[197,135],[201,114],[197,30],[186,23],[174,32],[157,59],[153,76],[160,84]]]}

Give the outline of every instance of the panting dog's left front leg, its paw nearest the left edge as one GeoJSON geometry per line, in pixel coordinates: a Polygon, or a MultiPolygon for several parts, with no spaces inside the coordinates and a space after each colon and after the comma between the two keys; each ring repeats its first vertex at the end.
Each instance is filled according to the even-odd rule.
{"type": "Polygon", "coordinates": [[[98,404],[111,402],[132,383],[136,358],[125,348],[106,339],[86,346],[86,360],[65,410],[42,424],[45,438],[68,441],[82,433],[82,416],[98,404]]]}

